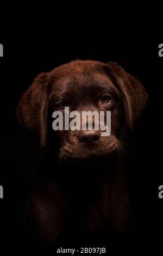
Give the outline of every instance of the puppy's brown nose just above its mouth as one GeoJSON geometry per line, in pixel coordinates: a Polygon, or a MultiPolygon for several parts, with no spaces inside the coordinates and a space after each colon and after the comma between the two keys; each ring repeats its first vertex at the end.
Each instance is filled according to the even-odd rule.
{"type": "Polygon", "coordinates": [[[101,138],[100,131],[80,131],[78,135],[79,141],[83,142],[87,147],[93,147],[101,138]]]}

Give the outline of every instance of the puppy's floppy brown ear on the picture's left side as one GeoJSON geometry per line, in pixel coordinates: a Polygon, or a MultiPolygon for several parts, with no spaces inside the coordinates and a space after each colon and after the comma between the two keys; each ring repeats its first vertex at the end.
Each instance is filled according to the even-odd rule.
{"type": "Polygon", "coordinates": [[[38,75],[27,92],[23,94],[16,109],[21,126],[40,135],[40,145],[46,144],[47,137],[47,74],[38,75]]]}

